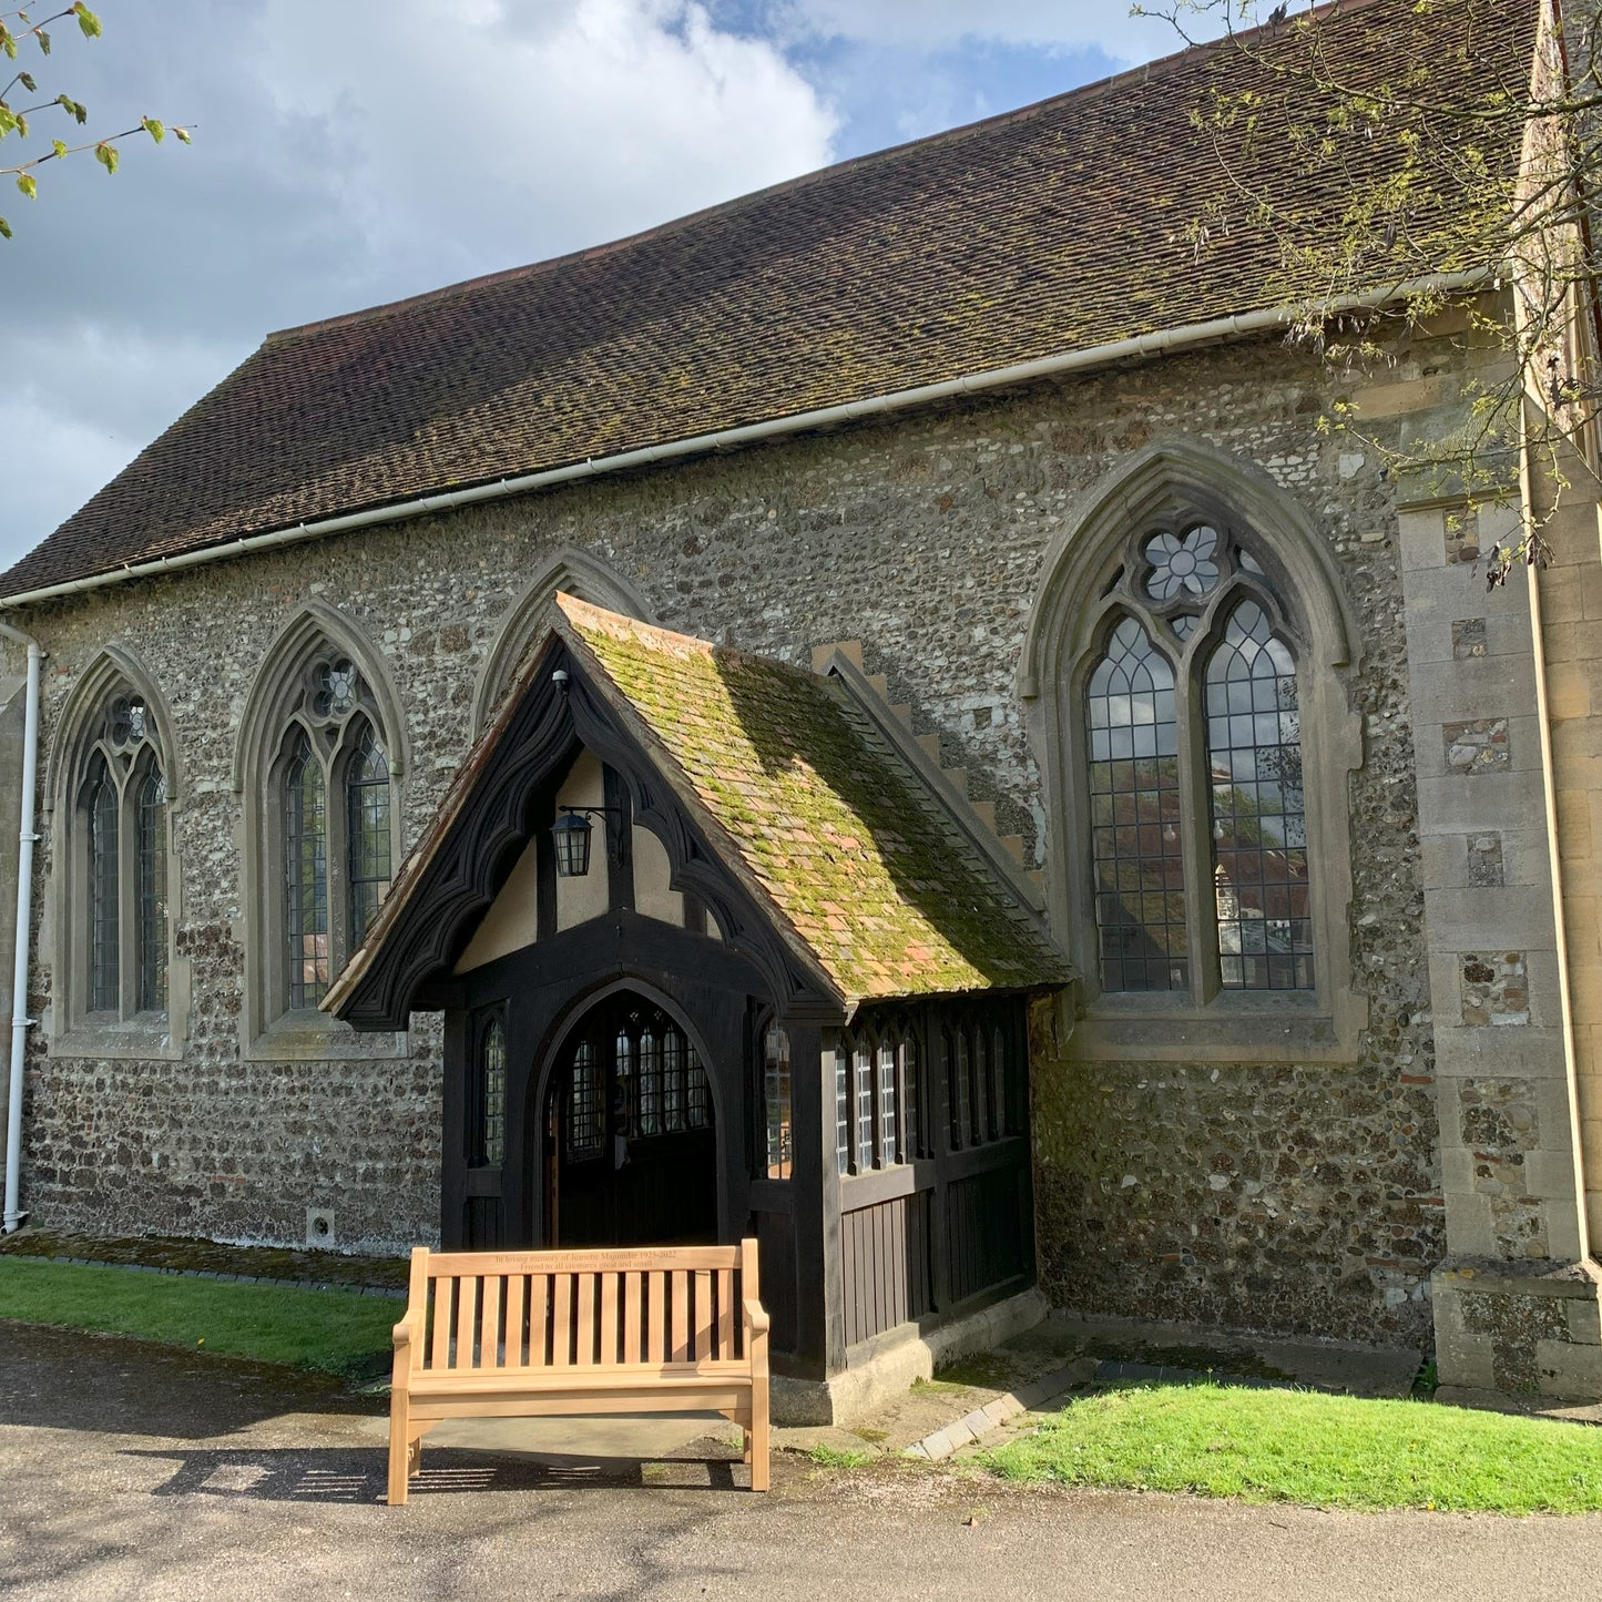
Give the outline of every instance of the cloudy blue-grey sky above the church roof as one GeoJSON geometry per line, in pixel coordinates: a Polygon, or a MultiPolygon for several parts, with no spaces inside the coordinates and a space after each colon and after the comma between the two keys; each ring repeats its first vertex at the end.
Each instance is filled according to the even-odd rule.
{"type": "Polygon", "coordinates": [[[0,189],[16,231],[0,569],[272,328],[615,239],[1176,48],[1125,0],[98,10],[101,40],[58,24],[50,61],[19,66],[87,103],[88,133],[149,114],[195,143],[130,139],[115,178],[53,162],[35,202],[0,189]]]}

